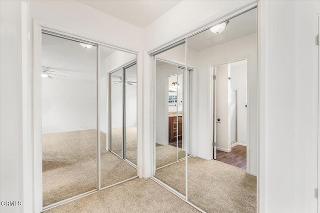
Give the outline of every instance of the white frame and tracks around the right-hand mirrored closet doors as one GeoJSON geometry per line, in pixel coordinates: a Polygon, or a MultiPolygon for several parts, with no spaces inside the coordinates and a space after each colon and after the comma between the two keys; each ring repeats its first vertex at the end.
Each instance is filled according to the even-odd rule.
{"type": "MultiPolygon", "coordinates": [[[[168,191],[170,191],[171,193],[173,193],[174,195],[176,195],[177,197],[181,198],[184,202],[186,202],[187,204],[189,204],[190,206],[194,207],[195,209],[197,209],[198,211],[200,212],[204,212],[203,210],[201,210],[200,208],[198,208],[197,206],[195,206],[194,204],[192,204],[191,202],[188,201],[187,199],[187,160],[185,162],[185,196],[181,195],[180,193],[178,193],[176,190],[172,189],[171,187],[169,187],[168,185],[166,185],[165,183],[161,182],[160,180],[156,179],[154,177],[155,175],[155,108],[154,108],[154,97],[155,97],[155,55],[157,55],[158,53],[160,52],[163,52],[165,50],[168,50],[170,48],[173,48],[174,46],[177,46],[181,43],[185,43],[185,64],[183,65],[184,67],[187,67],[187,38],[190,38],[192,37],[193,35],[195,34],[198,34],[202,31],[205,31],[209,28],[211,28],[212,26],[216,25],[216,24],[219,24],[219,23],[222,23],[226,20],[229,20],[231,19],[232,17],[235,17],[237,15],[240,15],[242,13],[245,13],[253,8],[258,8],[258,14],[257,14],[257,28],[259,29],[259,6],[258,6],[258,1],[257,0],[253,0],[251,2],[248,2],[240,7],[238,7],[237,9],[235,10],[232,10],[232,11],[229,11],[227,12],[226,14],[222,15],[222,16],[219,16],[217,18],[214,18],[212,19],[211,21],[207,22],[207,23],[204,23],[203,25],[200,25],[199,27],[191,30],[191,31],[188,31],[187,33],[173,39],[173,40],[170,40],[166,43],[164,43],[163,45],[159,46],[159,47],[156,47],[150,51],[148,51],[149,53],[149,63],[151,64],[151,75],[150,75],[150,124],[151,124],[151,131],[150,131],[150,135],[151,135],[151,159],[152,159],[152,164],[151,164],[151,179],[154,180],[155,182],[157,182],[158,184],[160,184],[161,186],[163,186],[165,189],[167,189],[168,191]]],[[[257,49],[259,50],[259,37],[257,39],[257,49]]],[[[260,57],[260,54],[259,54],[259,51],[257,52],[257,60],[258,60],[258,76],[259,76],[259,57],[260,57]]],[[[185,79],[186,80],[186,79],[185,79]]],[[[192,84],[190,85],[192,87],[192,84]]],[[[259,90],[259,81],[257,82],[257,89],[259,90]]],[[[184,97],[186,94],[184,94],[184,97]]],[[[259,99],[259,94],[258,94],[258,99],[259,99]]],[[[186,101],[186,102],[189,102],[189,101],[186,101]]],[[[257,107],[259,108],[259,103],[257,103],[257,107]]],[[[183,110],[186,111],[186,113],[188,113],[188,109],[185,108],[183,106],[183,110]]],[[[192,116],[190,116],[192,117],[192,116]]],[[[259,112],[258,112],[258,117],[259,117],[259,112]]],[[[184,119],[185,120],[185,119],[184,119]]],[[[259,120],[258,120],[258,126],[259,126],[259,120]]],[[[185,127],[183,128],[183,130],[188,130],[187,128],[188,127],[185,127]],[[186,129],[185,129],[186,128],[186,129]]],[[[189,132],[189,131],[188,131],[189,132]]],[[[258,129],[258,135],[259,135],[259,129],[258,129]]],[[[187,140],[190,140],[191,138],[193,139],[193,135],[192,133],[190,133],[190,135],[187,136],[188,139],[187,140]]],[[[186,143],[186,145],[188,145],[186,143]]],[[[257,138],[257,210],[259,212],[259,208],[260,208],[260,189],[259,189],[259,182],[260,182],[260,174],[259,174],[259,168],[260,168],[260,156],[259,156],[259,138],[257,138]]],[[[186,146],[186,151],[188,150],[188,147],[186,146]]],[[[186,158],[187,159],[187,152],[186,153],[186,158]]]]}

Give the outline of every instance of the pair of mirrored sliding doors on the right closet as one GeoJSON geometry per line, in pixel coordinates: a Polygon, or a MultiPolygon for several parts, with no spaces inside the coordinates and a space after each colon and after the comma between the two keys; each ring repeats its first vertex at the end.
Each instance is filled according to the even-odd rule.
{"type": "Polygon", "coordinates": [[[256,213],[256,20],[252,6],[151,54],[151,178],[200,212],[256,213]]]}

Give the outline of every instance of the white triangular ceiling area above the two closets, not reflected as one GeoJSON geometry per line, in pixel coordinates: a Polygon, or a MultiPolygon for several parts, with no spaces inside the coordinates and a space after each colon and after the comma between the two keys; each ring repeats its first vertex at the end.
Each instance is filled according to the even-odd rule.
{"type": "Polygon", "coordinates": [[[181,0],[77,0],[128,23],[144,28],[181,0]]]}

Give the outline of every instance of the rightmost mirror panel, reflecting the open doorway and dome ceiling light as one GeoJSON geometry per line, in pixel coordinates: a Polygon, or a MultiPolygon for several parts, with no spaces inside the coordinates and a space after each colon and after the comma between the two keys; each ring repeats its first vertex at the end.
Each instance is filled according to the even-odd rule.
{"type": "Polygon", "coordinates": [[[186,41],[187,63],[196,65],[197,84],[196,100],[191,101],[197,110],[191,110],[190,117],[198,121],[196,140],[190,137],[188,146],[192,157],[187,159],[187,195],[205,212],[256,213],[256,177],[250,175],[256,173],[252,166],[256,165],[256,17],[254,8],[229,19],[223,31],[212,27],[186,41]],[[246,76],[250,76],[247,82],[246,76]],[[246,94],[250,108],[246,108],[246,94]],[[232,106],[237,107],[233,123],[232,106]],[[246,118],[252,122],[248,126],[246,118]],[[232,130],[236,122],[239,128],[232,130]],[[247,159],[250,171],[246,171],[247,159]]]}

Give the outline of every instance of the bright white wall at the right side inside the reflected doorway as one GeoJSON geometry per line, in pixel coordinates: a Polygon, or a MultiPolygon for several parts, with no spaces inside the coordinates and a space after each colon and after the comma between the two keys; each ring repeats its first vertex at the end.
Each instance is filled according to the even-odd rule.
{"type": "Polygon", "coordinates": [[[230,63],[230,88],[236,90],[237,95],[237,142],[246,144],[246,60],[230,63]]]}

